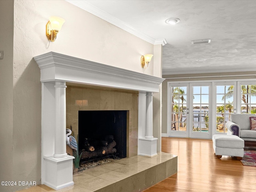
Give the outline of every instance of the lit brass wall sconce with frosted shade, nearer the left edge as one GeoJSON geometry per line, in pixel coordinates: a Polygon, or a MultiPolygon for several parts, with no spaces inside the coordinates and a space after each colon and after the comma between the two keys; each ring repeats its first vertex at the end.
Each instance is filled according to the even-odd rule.
{"type": "Polygon", "coordinates": [[[46,36],[49,41],[52,41],[52,42],[55,41],[56,36],[57,36],[58,32],[60,31],[64,22],[65,22],[65,20],[60,17],[56,17],[56,16],[50,17],[48,23],[46,24],[46,36]],[[49,29],[50,24],[52,26],[52,30],[49,29]],[[49,30],[50,30],[50,32],[49,32],[49,30]]]}

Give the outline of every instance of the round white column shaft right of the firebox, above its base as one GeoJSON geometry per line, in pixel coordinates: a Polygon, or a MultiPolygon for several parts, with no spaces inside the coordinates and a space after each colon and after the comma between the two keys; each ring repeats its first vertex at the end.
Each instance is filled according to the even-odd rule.
{"type": "Polygon", "coordinates": [[[153,138],[153,93],[146,93],[146,136],[153,138]]]}

